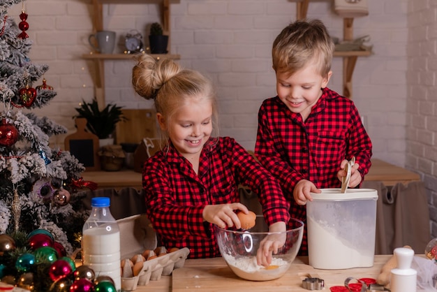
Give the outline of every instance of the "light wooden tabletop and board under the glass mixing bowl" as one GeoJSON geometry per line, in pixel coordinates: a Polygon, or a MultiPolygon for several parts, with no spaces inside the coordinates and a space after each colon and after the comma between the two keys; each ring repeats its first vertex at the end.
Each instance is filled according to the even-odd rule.
{"type": "MultiPolygon", "coordinates": [[[[384,263],[391,255],[375,256],[371,268],[353,268],[347,270],[317,270],[308,265],[308,258],[299,257],[290,269],[279,279],[266,282],[251,282],[237,277],[223,258],[200,258],[186,260],[183,268],[173,270],[172,276],[163,276],[150,281],[147,286],[138,286],[136,292],[211,292],[211,291],[308,291],[302,288],[302,279],[320,277],[325,280],[325,289],[343,286],[347,277],[376,279],[384,263]]],[[[421,255],[423,256],[423,255],[421,255]]]]}

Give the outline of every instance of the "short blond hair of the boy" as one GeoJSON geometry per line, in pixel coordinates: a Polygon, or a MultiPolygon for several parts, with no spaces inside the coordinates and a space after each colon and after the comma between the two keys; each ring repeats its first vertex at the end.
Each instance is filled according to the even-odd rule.
{"type": "Polygon", "coordinates": [[[320,20],[297,20],[276,36],[272,48],[273,68],[292,75],[316,58],[319,73],[331,70],[334,43],[320,20]]]}

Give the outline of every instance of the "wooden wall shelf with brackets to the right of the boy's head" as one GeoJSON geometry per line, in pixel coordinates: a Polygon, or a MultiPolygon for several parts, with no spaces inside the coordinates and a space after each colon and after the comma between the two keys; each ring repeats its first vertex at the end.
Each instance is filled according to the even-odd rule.
{"type": "MultiPolygon", "coordinates": [[[[308,13],[310,0],[292,0],[296,1],[296,18],[303,20],[308,13]]],[[[343,41],[353,41],[353,18],[343,18],[343,41]]],[[[343,96],[352,98],[352,75],[357,63],[358,57],[369,57],[372,54],[370,50],[334,52],[334,57],[343,58],[343,96]]]]}

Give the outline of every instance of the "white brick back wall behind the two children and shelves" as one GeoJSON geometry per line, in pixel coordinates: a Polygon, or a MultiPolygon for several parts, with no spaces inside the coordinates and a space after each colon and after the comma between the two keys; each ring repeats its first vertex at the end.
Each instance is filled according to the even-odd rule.
{"type": "MultiPolygon", "coordinates": [[[[311,2],[308,16],[320,18],[333,36],[342,38],[343,19],[332,13],[332,2],[311,2]]],[[[82,98],[90,100],[94,95],[92,62],[81,58],[91,51],[88,44],[92,31],[91,1],[25,3],[29,14],[28,33],[34,40],[29,57],[31,61],[50,65],[45,78],[58,93],[51,105],[36,113],[47,115],[74,131],[71,118],[75,115],[74,107],[82,98]]],[[[407,48],[413,45],[406,45],[407,39],[411,43],[425,38],[435,41],[437,24],[426,4],[435,10],[434,1],[369,1],[369,16],[354,21],[354,36],[369,35],[374,54],[357,60],[353,100],[366,117],[374,143],[373,156],[399,166],[404,166],[406,152],[412,152],[416,145],[426,148],[433,143],[427,138],[427,133],[432,131],[426,128],[429,120],[423,120],[425,115],[431,115],[433,101],[427,100],[428,103],[416,107],[415,101],[407,99],[424,100],[432,95],[423,86],[434,85],[434,73],[425,71],[425,65],[437,67],[437,58],[425,58],[431,54],[433,41],[420,46],[414,53],[420,56],[417,59],[411,58],[410,52],[407,58],[407,48]],[[410,10],[420,11],[417,19],[414,13],[407,15],[408,3],[410,10]],[[422,29],[422,22],[427,23],[428,33],[422,29]],[[417,84],[407,87],[407,77],[408,82],[413,80],[417,84]],[[406,116],[410,103],[417,112],[416,115],[408,112],[406,116]],[[428,130],[416,133],[408,128],[407,132],[417,138],[408,147],[407,121],[428,130]]],[[[180,0],[170,7],[171,51],[181,54],[180,63],[184,66],[212,78],[218,93],[221,136],[233,136],[249,149],[255,144],[258,108],[263,99],[275,94],[272,41],[283,27],[295,20],[295,7],[288,0],[180,0]]],[[[19,20],[20,10],[21,5],[15,6],[9,16],[19,20]]],[[[108,4],[103,11],[105,28],[117,32],[117,52],[123,50],[124,35],[131,29],[140,31],[147,43],[149,24],[159,20],[156,4],[108,4]]],[[[132,66],[133,61],[105,61],[106,99],[126,108],[151,108],[151,102],[136,96],[131,88],[132,66]]],[[[328,85],[339,93],[342,93],[342,66],[342,59],[334,58],[334,75],[328,85]]],[[[64,137],[59,137],[54,143],[62,145],[63,140],[64,137]]],[[[412,168],[417,168],[415,155],[408,154],[408,165],[412,168]]],[[[436,166],[433,164],[432,168],[436,166]]]]}

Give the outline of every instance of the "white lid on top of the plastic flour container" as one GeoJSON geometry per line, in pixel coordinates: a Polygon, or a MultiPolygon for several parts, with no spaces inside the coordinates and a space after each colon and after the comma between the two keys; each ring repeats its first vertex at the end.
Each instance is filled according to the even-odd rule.
{"type": "Polygon", "coordinates": [[[320,189],[320,194],[311,193],[313,200],[378,200],[376,189],[347,189],[341,194],[341,189],[320,189]]]}

